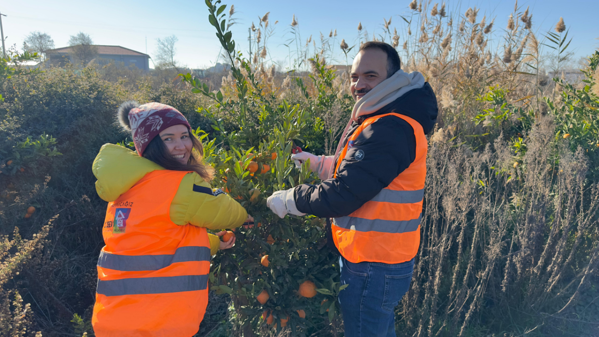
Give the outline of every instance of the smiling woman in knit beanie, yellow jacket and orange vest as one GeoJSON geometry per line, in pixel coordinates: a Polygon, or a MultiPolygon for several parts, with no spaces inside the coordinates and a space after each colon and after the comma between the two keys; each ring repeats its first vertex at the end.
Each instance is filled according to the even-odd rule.
{"type": "Polygon", "coordinates": [[[206,230],[253,218],[210,188],[214,169],[202,164],[202,145],[179,111],[130,101],[118,119],[137,153],[106,144],[93,162],[96,191],[109,201],[93,329],[98,337],[193,336],[208,302],[210,257],[235,242],[206,230]]]}

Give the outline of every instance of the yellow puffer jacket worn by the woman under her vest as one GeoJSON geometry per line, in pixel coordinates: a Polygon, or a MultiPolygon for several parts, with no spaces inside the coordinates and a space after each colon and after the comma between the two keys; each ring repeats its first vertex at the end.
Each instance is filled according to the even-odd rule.
{"type": "MultiPolygon", "coordinates": [[[[164,170],[137,153],[114,144],[105,144],[93,161],[96,191],[105,201],[114,201],[147,173],[164,170]]],[[[188,173],[181,180],[171,203],[171,220],[177,225],[192,224],[211,230],[235,228],[247,219],[246,210],[228,194],[211,195],[193,191],[193,185],[210,188],[199,174],[188,173]]],[[[219,249],[220,239],[208,234],[212,255],[219,249]]]]}

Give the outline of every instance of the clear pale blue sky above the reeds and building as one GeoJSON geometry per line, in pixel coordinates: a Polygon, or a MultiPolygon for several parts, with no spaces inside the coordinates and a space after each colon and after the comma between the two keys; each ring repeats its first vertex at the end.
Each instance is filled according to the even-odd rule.
{"type": "MultiPolygon", "coordinates": [[[[305,43],[310,35],[319,37],[337,29],[337,41],[344,38],[352,46],[357,37],[358,22],[372,35],[382,32],[383,17],[392,17],[392,25],[400,23],[400,15],[409,14],[409,0],[400,1],[231,1],[237,14],[237,25],[232,28],[233,38],[247,54],[247,29],[258,17],[270,11],[270,25],[276,20],[274,35],[268,47],[270,59],[288,64],[288,50],[283,46],[291,38],[289,24],[292,16],[298,19],[299,32],[305,43]]],[[[434,2],[432,2],[434,3],[434,2]]],[[[507,17],[514,8],[513,1],[452,1],[447,0],[447,11],[479,7],[479,17],[496,17],[495,27],[505,28],[507,17]]],[[[564,17],[573,41],[569,49],[580,58],[599,47],[599,1],[591,0],[537,0],[519,1],[524,10],[530,6],[533,14],[533,30],[544,33],[553,29],[559,17],[564,17]]],[[[207,7],[203,0],[195,1],[87,1],[87,0],[30,0],[4,1],[0,5],[6,44],[21,47],[23,39],[31,31],[50,34],[56,47],[66,46],[69,35],[83,31],[91,35],[95,44],[119,45],[154,55],[156,38],[176,35],[177,60],[191,68],[208,67],[217,59],[220,44],[207,20],[207,7]],[[59,3],[59,5],[57,4],[59,3]]],[[[398,27],[398,31],[400,31],[398,27]]],[[[401,35],[401,34],[400,34],[401,35]]],[[[400,44],[403,40],[400,40],[400,44]]],[[[353,54],[353,51],[352,51],[353,54]]],[[[344,63],[344,59],[338,58],[344,63]]],[[[351,59],[349,60],[351,62],[351,59]]],[[[150,67],[152,64],[150,63],[150,67]]]]}

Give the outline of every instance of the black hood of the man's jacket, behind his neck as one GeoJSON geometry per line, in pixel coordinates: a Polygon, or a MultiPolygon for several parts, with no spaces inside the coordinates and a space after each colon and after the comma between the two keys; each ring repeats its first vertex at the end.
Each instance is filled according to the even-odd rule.
{"type": "Polygon", "coordinates": [[[432,91],[431,85],[426,82],[422,88],[412,89],[377,112],[361,116],[361,118],[366,119],[371,116],[385,115],[391,112],[414,119],[422,125],[424,134],[429,134],[437,123],[439,112],[437,97],[432,91]]]}

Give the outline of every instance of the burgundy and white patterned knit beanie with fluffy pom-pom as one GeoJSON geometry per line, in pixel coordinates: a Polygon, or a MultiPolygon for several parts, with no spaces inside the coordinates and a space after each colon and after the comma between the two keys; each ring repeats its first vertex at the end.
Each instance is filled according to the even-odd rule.
{"type": "Polygon", "coordinates": [[[178,124],[190,128],[189,122],[179,110],[155,102],[140,106],[135,101],[127,101],[120,105],[117,118],[125,130],[131,131],[135,150],[140,156],[143,156],[150,141],[162,130],[178,124]]]}

